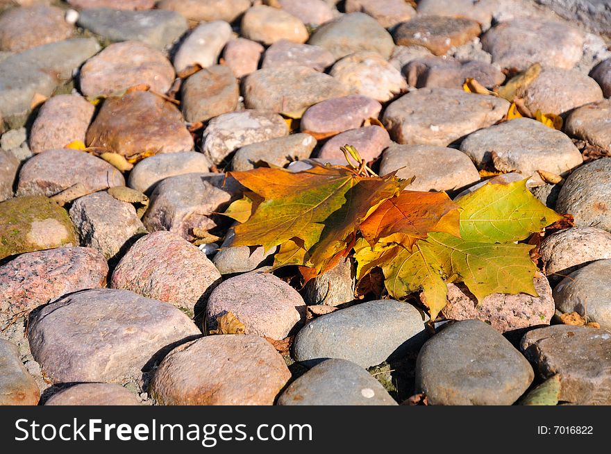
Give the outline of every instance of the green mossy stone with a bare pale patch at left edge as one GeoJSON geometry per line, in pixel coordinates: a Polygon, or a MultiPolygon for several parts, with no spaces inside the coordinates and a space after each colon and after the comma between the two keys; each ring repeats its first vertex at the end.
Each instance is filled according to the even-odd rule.
{"type": "Polygon", "coordinates": [[[0,203],[0,259],[77,244],[67,212],[47,197],[14,197],[0,203]]]}

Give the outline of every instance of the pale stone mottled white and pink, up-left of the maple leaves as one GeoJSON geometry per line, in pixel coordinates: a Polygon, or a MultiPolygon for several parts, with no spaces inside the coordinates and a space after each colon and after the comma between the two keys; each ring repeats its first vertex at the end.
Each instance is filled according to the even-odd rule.
{"type": "Polygon", "coordinates": [[[202,153],[220,164],[242,146],[288,135],[283,117],[267,110],[243,110],[210,120],[201,139],[202,153]]]}

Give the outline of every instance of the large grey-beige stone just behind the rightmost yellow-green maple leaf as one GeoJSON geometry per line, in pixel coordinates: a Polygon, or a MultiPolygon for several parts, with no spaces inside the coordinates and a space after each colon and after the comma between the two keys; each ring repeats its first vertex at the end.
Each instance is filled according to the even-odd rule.
{"type": "Polygon", "coordinates": [[[536,176],[537,170],[567,174],[583,162],[567,135],[530,118],[516,118],[475,131],[464,138],[460,151],[478,169],[492,165],[525,178],[536,176]]]}

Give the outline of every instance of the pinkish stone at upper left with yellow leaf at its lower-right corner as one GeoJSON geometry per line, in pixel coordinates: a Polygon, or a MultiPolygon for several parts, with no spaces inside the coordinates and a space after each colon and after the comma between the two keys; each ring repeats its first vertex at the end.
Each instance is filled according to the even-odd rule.
{"type": "Polygon", "coordinates": [[[61,149],[75,140],[85,142],[94,112],[94,105],[78,94],[53,96],[42,105],[32,125],[31,151],[42,153],[61,149]]]}

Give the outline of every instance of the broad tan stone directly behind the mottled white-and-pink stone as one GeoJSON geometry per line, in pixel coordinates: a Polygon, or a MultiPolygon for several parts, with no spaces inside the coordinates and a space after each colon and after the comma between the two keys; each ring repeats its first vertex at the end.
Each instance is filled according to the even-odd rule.
{"type": "Polygon", "coordinates": [[[301,117],[308,107],[325,99],[346,96],[350,90],[328,74],[308,67],[288,66],[259,69],[249,74],[244,79],[242,94],[246,108],[301,117]]]}

